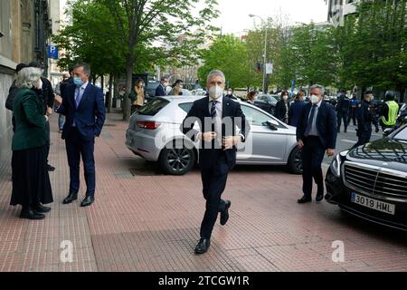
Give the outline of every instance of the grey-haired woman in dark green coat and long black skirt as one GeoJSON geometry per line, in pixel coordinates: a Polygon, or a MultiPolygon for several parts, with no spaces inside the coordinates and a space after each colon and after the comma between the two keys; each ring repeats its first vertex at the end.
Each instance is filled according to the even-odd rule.
{"type": "Polygon", "coordinates": [[[42,88],[41,72],[36,68],[24,68],[18,73],[19,88],[13,103],[15,132],[13,136],[13,193],[10,204],[21,205],[20,218],[43,219],[43,213],[51,208],[52,188],[47,170],[46,123],[43,102],[33,92],[42,88]]]}

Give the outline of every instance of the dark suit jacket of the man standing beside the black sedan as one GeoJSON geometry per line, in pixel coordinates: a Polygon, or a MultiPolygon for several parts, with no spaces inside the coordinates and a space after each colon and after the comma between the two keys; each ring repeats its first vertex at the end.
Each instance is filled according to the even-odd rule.
{"type": "MultiPolygon", "coordinates": [[[[305,131],[308,126],[309,113],[312,103],[308,102],[301,111],[297,127],[297,140],[305,140],[305,131]]],[[[317,132],[324,148],[336,149],[336,111],[334,106],[327,102],[321,102],[317,114],[317,132]]]]}

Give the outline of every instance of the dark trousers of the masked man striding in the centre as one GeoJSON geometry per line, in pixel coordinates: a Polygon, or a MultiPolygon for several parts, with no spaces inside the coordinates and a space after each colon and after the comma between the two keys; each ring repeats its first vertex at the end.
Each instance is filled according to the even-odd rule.
{"type": "Polygon", "coordinates": [[[201,224],[202,238],[211,238],[218,213],[226,208],[226,203],[221,197],[226,187],[229,166],[224,152],[222,150],[216,151],[217,159],[213,163],[213,167],[201,169],[203,193],[206,200],[206,210],[201,224]]]}

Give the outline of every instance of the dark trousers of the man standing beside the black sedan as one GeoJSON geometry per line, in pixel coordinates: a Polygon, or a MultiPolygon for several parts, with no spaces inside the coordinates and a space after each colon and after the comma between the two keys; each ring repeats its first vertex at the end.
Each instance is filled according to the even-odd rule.
{"type": "Polygon", "coordinates": [[[302,150],[302,191],[308,198],[311,198],[312,195],[312,179],[317,183],[317,194],[324,194],[324,177],[321,168],[324,154],[325,149],[319,137],[308,136],[305,138],[304,148],[302,150]]]}

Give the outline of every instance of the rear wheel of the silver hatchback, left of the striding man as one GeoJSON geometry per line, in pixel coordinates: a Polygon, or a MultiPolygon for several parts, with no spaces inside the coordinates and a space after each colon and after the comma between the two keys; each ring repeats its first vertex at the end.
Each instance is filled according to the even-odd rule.
{"type": "Polygon", "coordinates": [[[189,170],[193,169],[196,154],[194,149],[186,148],[185,145],[166,146],[160,154],[159,164],[161,169],[165,171],[166,174],[170,175],[184,175],[189,170]]]}

